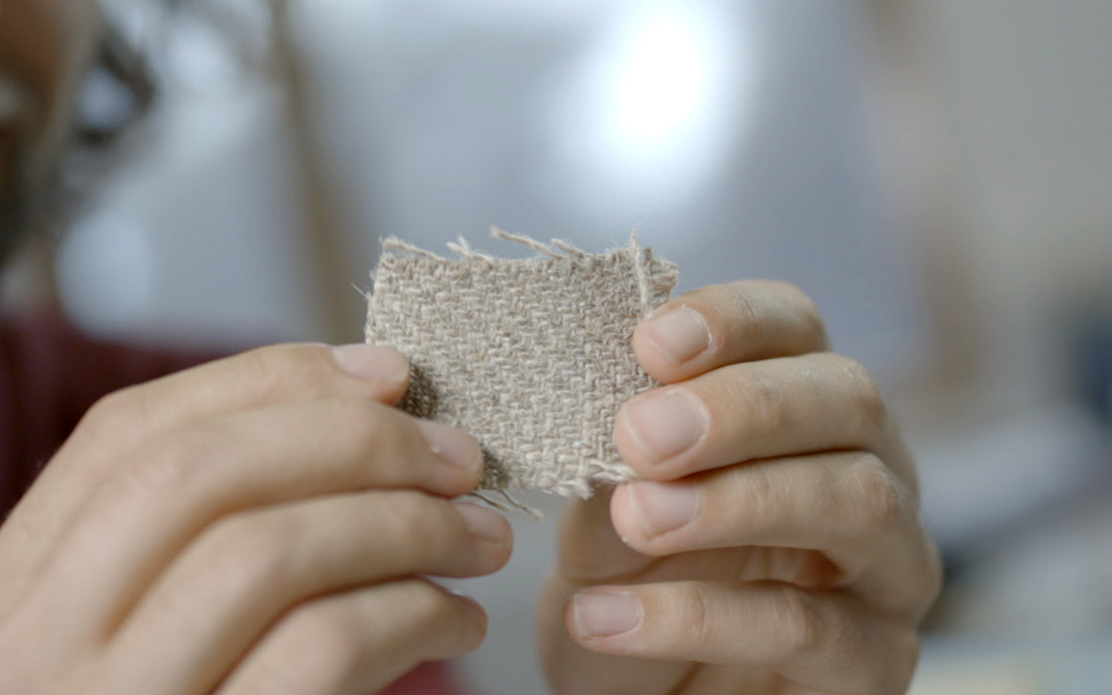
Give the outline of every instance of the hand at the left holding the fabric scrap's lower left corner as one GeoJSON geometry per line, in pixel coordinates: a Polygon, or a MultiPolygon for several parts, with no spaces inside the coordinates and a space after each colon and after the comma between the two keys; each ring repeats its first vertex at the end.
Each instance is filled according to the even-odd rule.
{"type": "Polygon", "coordinates": [[[107,397],[0,527],[3,695],[357,694],[475,648],[477,443],[393,350],[279,346],[107,397]]]}

